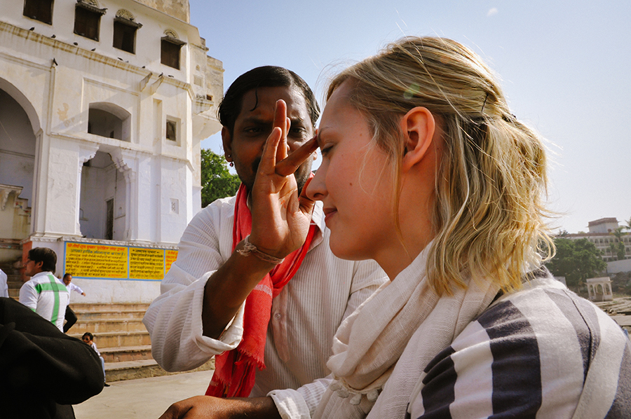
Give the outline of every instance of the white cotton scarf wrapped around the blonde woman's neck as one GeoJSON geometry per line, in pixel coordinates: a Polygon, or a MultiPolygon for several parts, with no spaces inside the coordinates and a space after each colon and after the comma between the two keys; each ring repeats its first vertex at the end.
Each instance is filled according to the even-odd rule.
{"type": "MultiPolygon", "coordinates": [[[[412,334],[423,329],[422,369],[493,301],[499,287],[470,282],[439,297],[426,278],[428,245],[395,279],[380,287],[337,330],[327,362],[335,380],[314,418],[364,418],[390,377],[412,334]]],[[[410,380],[411,394],[416,380],[410,380]]],[[[405,404],[401,409],[405,414],[405,404]]],[[[400,417],[403,417],[402,415],[400,417]]]]}

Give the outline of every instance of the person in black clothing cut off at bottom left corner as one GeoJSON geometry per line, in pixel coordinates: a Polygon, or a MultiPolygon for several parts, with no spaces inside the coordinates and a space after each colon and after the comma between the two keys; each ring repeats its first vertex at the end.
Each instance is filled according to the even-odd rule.
{"type": "Polygon", "coordinates": [[[79,339],[11,298],[0,298],[0,418],[74,419],[103,389],[101,363],[79,339]]]}

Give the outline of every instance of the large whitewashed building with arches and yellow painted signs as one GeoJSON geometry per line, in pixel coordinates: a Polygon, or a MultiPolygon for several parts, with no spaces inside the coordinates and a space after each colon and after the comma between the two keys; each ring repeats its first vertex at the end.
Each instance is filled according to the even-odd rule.
{"type": "Polygon", "coordinates": [[[201,209],[222,62],[188,0],[0,9],[0,262],[50,247],[88,298],[151,301],[201,209]]]}

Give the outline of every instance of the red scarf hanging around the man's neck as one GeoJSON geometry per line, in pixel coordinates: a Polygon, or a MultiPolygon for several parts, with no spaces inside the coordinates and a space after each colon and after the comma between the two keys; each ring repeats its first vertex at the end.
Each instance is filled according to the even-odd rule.
{"type": "MultiPolygon", "coordinates": [[[[233,251],[251,232],[252,214],[247,207],[247,190],[241,184],[234,207],[233,251]]],[[[206,390],[207,396],[248,397],[252,392],[257,367],[265,369],[265,341],[271,317],[272,298],[280,294],[300,267],[314,233],[315,224],[311,224],[304,245],[287,255],[283,263],[265,275],[245,299],[243,338],[236,349],[215,356],[215,375],[212,376],[206,390]]]]}

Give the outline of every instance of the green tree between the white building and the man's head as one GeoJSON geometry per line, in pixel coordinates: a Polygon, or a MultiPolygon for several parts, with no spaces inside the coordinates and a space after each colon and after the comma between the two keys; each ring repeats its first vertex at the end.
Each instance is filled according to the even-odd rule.
{"type": "Polygon", "coordinates": [[[236,195],[241,181],[236,174],[231,174],[222,156],[210,150],[201,151],[201,186],[202,207],[210,202],[236,195]]]}

